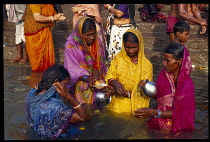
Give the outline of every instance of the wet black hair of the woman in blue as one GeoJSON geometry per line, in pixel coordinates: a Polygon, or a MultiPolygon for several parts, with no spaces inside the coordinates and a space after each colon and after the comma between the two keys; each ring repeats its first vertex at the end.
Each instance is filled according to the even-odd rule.
{"type": "Polygon", "coordinates": [[[70,77],[69,72],[62,65],[52,65],[50,66],[43,74],[42,80],[38,85],[37,93],[42,90],[48,90],[52,87],[52,84],[56,79],[59,82],[66,79],[66,77],[70,77]]]}

